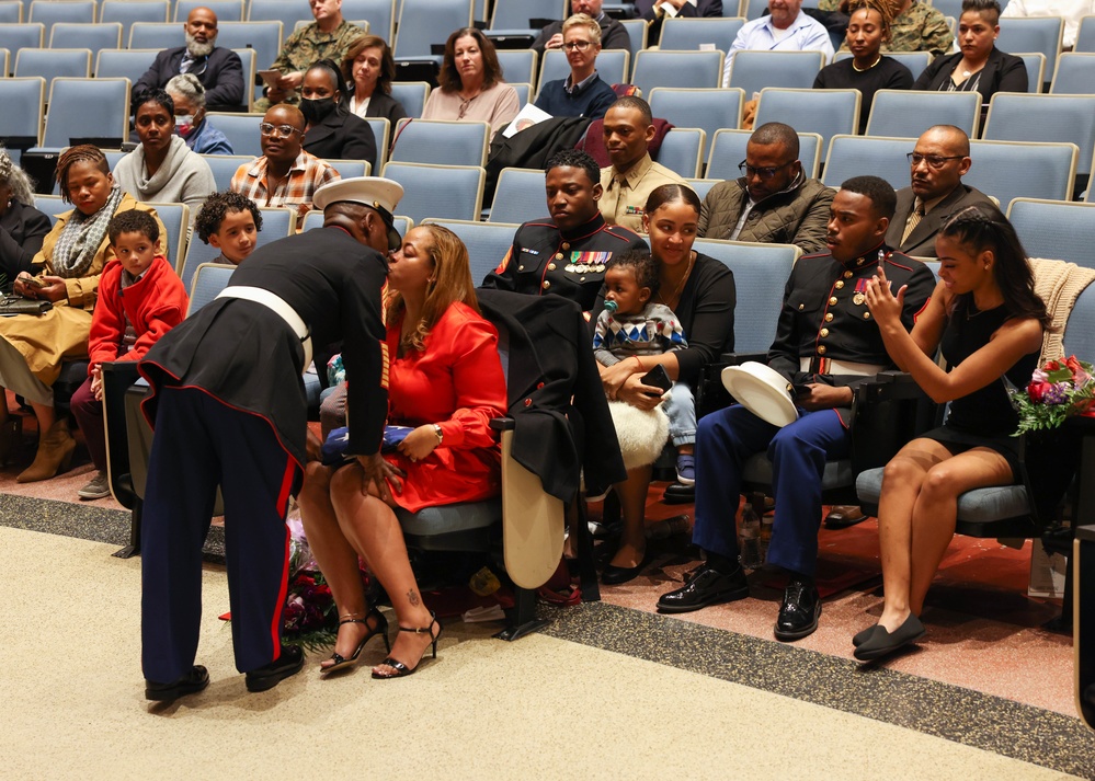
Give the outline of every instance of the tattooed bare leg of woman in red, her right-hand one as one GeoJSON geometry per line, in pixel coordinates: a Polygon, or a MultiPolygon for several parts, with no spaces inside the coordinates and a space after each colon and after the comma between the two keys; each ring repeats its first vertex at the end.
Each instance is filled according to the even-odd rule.
{"type": "MultiPolygon", "coordinates": [[[[331,504],[339,525],[387,590],[399,625],[425,629],[432,619],[411,571],[403,530],[391,507],[376,496],[363,495],[362,485],[363,472],[357,464],[344,467],[332,476],[331,504]]],[[[429,633],[397,632],[391,657],[414,668],[432,640],[429,633]]],[[[386,666],[376,669],[395,673],[386,666]]]]}

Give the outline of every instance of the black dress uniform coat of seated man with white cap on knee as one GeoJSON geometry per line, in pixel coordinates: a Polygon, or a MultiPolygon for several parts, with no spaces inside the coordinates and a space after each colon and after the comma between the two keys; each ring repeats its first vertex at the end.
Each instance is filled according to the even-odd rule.
{"type": "MultiPolygon", "coordinates": [[[[935,275],[920,261],[892,252],[885,244],[844,265],[828,252],[806,255],[795,263],[776,324],[776,338],[768,351],[768,366],[795,383],[820,382],[855,387],[865,377],[834,375],[830,360],[892,366],[864,298],[867,282],[885,257],[886,278],[893,292],[908,285],[901,322],[912,329],[935,289],[935,275]],[[810,358],[810,370],[800,370],[800,359],[810,358]]],[[[839,409],[848,424],[851,409],[839,409]]]]}

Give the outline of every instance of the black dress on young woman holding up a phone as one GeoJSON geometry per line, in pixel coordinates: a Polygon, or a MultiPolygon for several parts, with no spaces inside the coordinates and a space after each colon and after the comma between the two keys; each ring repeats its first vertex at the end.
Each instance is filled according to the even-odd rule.
{"type": "MultiPolygon", "coordinates": [[[[958,366],[981,349],[1011,317],[1004,305],[977,311],[971,298],[959,299],[943,333],[943,357],[947,366],[958,366]]],[[[1012,436],[1018,428],[1019,416],[1007,395],[1007,383],[1026,387],[1037,366],[1037,352],[1023,356],[999,380],[950,402],[946,423],[923,436],[956,456],[976,447],[995,450],[1007,460],[1013,481],[1022,483],[1019,440],[1012,436]]]]}

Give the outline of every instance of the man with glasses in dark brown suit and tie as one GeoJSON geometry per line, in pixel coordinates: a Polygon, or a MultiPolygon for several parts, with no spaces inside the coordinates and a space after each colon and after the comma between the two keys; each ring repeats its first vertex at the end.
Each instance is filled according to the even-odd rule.
{"type": "Polygon", "coordinates": [[[898,208],[886,243],[906,255],[935,257],[935,236],[947,217],[967,206],[990,203],[984,193],[962,184],[970,170],[970,139],[953,125],[924,131],[909,154],[912,185],[898,191],[898,208]]]}

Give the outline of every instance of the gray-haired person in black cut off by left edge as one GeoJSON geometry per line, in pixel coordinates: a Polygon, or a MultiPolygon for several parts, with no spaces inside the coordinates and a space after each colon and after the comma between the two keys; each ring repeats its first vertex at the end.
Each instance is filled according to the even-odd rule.
{"type": "Polygon", "coordinates": [[[34,185],[0,146],[0,287],[11,287],[15,275],[31,269],[53,222],[34,208],[34,185]]]}

